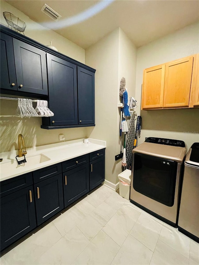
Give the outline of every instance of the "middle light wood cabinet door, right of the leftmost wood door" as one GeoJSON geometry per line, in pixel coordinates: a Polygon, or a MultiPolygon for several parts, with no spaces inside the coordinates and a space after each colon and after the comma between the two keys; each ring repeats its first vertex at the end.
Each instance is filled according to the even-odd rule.
{"type": "Polygon", "coordinates": [[[193,56],[169,62],[165,66],[163,107],[188,107],[193,56]]]}

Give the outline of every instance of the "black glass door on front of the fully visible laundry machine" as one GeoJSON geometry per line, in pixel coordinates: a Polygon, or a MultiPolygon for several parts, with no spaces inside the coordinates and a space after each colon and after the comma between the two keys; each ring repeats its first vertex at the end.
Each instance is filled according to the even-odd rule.
{"type": "Polygon", "coordinates": [[[167,206],[173,206],[177,167],[176,161],[135,153],[134,190],[167,206]]]}

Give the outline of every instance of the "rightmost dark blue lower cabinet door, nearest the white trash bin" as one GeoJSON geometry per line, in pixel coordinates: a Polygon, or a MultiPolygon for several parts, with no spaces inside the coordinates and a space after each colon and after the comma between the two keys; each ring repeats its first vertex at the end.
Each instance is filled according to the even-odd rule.
{"type": "Polygon", "coordinates": [[[105,157],[90,162],[90,190],[104,181],[105,157]]]}

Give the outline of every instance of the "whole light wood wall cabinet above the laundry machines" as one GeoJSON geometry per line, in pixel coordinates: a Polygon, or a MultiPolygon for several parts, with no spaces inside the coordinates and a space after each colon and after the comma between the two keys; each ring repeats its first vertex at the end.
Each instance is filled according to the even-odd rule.
{"type": "Polygon", "coordinates": [[[144,70],[142,108],[199,107],[198,54],[144,70]]]}

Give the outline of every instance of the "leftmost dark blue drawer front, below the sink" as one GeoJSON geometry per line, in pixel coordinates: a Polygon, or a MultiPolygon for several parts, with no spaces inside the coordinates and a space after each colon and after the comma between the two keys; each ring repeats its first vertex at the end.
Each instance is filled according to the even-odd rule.
{"type": "Polygon", "coordinates": [[[1,181],[1,197],[32,185],[32,172],[1,181]]]}

